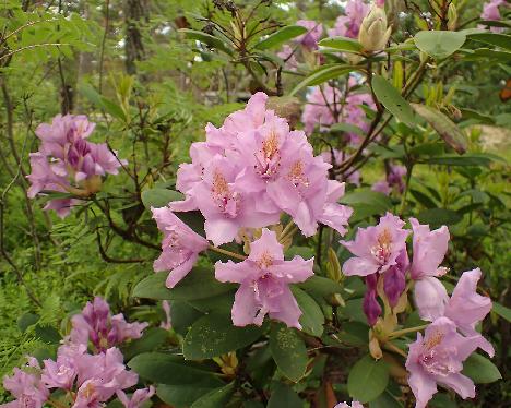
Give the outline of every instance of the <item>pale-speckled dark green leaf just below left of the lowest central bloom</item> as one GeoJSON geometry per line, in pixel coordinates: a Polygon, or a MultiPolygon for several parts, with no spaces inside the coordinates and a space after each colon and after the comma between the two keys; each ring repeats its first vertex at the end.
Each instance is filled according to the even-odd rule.
{"type": "Polygon", "coordinates": [[[230,316],[210,314],[199,319],[185,337],[186,359],[201,360],[238,350],[255,341],[263,329],[255,325],[236,327],[230,316]]]}

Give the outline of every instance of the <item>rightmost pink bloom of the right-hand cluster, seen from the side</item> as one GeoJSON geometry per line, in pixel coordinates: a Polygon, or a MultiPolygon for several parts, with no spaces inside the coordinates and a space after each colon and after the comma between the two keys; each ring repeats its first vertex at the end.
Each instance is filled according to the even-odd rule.
{"type": "Polygon", "coordinates": [[[444,315],[453,321],[465,336],[476,338],[477,346],[494,357],[494,346],[475,329],[476,324],[491,310],[490,298],[476,292],[479,279],[479,268],[463,273],[445,304],[444,315]]]}

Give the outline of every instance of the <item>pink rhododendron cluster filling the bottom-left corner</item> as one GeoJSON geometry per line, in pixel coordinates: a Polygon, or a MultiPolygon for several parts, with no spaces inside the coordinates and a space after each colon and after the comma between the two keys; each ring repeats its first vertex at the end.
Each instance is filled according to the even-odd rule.
{"type": "Polygon", "coordinates": [[[55,361],[44,360],[41,368],[32,357],[24,370],[16,368],[12,376],[4,377],[4,388],[16,399],[1,407],[41,408],[57,391],[67,392],[72,397],[72,408],[99,408],[115,395],[126,408],[140,407],[152,397],[154,388],[151,386],[138,389],[130,399],[124,389],[135,385],[139,376],[126,370],[123,356],[118,348],[106,346],[139,338],[146,324],[127,323],[122,314],[110,316],[108,304],[100,298],[94,299],[93,303],[87,303],[82,314],[73,319],[71,336],[59,347],[55,361]],[[79,332],[78,341],[74,341],[79,332]],[[102,343],[106,338],[108,339],[102,343]],[[87,351],[90,339],[94,353],[87,351]],[[97,348],[94,339],[99,339],[99,344],[105,347],[97,348]]]}

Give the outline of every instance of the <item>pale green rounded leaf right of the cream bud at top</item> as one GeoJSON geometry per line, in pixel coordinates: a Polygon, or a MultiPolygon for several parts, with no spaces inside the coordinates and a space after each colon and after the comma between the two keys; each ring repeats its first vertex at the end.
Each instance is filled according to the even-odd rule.
{"type": "Polygon", "coordinates": [[[460,32],[423,31],[415,35],[414,40],[423,52],[436,59],[444,59],[465,44],[466,36],[460,32]]]}

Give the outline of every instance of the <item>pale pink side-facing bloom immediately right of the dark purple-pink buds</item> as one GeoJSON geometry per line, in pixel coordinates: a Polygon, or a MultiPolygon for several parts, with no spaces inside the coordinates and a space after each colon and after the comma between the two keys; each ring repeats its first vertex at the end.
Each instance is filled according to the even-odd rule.
{"type": "Polygon", "coordinates": [[[445,287],[437,279],[447,273],[440,264],[448,250],[449,230],[442,226],[430,231],[428,225],[420,225],[415,218],[411,218],[409,224],[414,231],[411,277],[415,280],[415,304],[420,319],[433,321],[443,315],[449,299],[445,287]]]}

